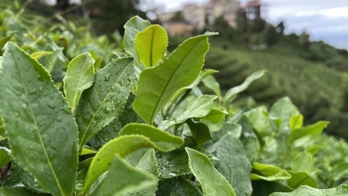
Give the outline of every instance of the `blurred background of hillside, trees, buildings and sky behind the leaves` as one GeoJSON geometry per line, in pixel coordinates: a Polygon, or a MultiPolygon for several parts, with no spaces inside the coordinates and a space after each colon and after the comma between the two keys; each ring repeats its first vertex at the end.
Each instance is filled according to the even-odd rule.
{"type": "Polygon", "coordinates": [[[347,0],[0,0],[0,11],[6,8],[28,23],[39,16],[37,27],[72,21],[111,43],[139,15],[167,29],[169,50],[189,36],[220,32],[210,40],[205,68],[220,71],[224,91],[268,69],[238,106],[288,96],[307,124],[328,120],[327,133],[348,139],[347,0]]]}

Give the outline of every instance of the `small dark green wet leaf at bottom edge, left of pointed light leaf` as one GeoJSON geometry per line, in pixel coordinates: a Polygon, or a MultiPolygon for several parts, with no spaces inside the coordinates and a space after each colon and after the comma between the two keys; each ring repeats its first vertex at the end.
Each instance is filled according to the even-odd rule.
{"type": "Polygon", "coordinates": [[[203,196],[200,190],[188,180],[179,177],[170,196],[203,196]]]}

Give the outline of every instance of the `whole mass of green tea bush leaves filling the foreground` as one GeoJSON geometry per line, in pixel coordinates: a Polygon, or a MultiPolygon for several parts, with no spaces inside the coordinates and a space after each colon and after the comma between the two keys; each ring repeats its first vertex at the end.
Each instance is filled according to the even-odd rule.
{"type": "MultiPolygon", "coordinates": [[[[2,28],[9,18],[2,13],[2,28]]],[[[348,147],[321,134],[328,122],[303,126],[287,97],[270,110],[236,110],[232,101],[265,70],[222,96],[217,71],[202,70],[216,33],[169,53],[165,29],[135,16],[125,24],[124,53],[103,46],[114,55],[98,62],[93,51],[100,48],[88,47],[98,40],[72,38],[53,50],[62,41],[54,32],[0,39],[0,166],[10,166],[1,195],[348,194],[340,185],[348,178],[348,147]],[[57,67],[62,81],[54,78],[57,67]]]]}

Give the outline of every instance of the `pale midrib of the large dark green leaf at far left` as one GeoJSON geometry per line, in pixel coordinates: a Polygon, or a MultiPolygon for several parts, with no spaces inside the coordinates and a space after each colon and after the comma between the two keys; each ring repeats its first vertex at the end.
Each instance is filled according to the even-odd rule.
{"type": "MultiPolygon", "coordinates": [[[[23,86],[25,87],[25,83],[24,83],[24,80],[23,80],[23,76],[22,76],[21,69],[20,69],[19,66],[18,66],[18,62],[17,62],[16,55],[15,55],[15,53],[13,52],[12,49],[11,49],[11,53],[12,53],[12,55],[14,56],[15,64],[16,64],[16,67],[17,67],[17,69],[18,69],[18,72],[19,72],[19,75],[20,75],[22,84],[23,84],[23,86]]],[[[59,182],[59,180],[58,180],[58,178],[57,178],[57,176],[56,176],[56,173],[55,173],[55,171],[54,171],[54,169],[53,169],[52,163],[50,162],[50,160],[49,160],[49,158],[48,158],[48,154],[47,154],[47,151],[46,151],[44,142],[42,141],[41,134],[40,134],[40,131],[39,131],[39,127],[38,127],[38,124],[37,124],[37,122],[36,122],[36,118],[35,118],[35,115],[34,115],[34,111],[33,111],[33,108],[32,108],[32,106],[31,106],[31,102],[30,102],[30,99],[29,99],[29,94],[28,94],[26,88],[24,88],[24,90],[25,90],[25,96],[26,96],[26,98],[27,98],[27,100],[28,100],[28,102],[29,102],[29,107],[30,107],[30,111],[31,111],[31,114],[32,114],[32,117],[33,117],[33,120],[34,120],[34,124],[35,124],[36,130],[37,130],[37,132],[38,132],[38,134],[39,134],[40,144],[41,144],[42,148],[44,149],[45,157],[47,158],[48,165],[49,165],[49,167],[50,167],[50,169],[51,169],[51,172],[53,173],[53,177],[54,177],[55,181],[57,182],[58,188],[59,188],[61,194],[64,195],[63,189],[62,189],[61,184],[60,184],[60,182],[59,182]]]]}

